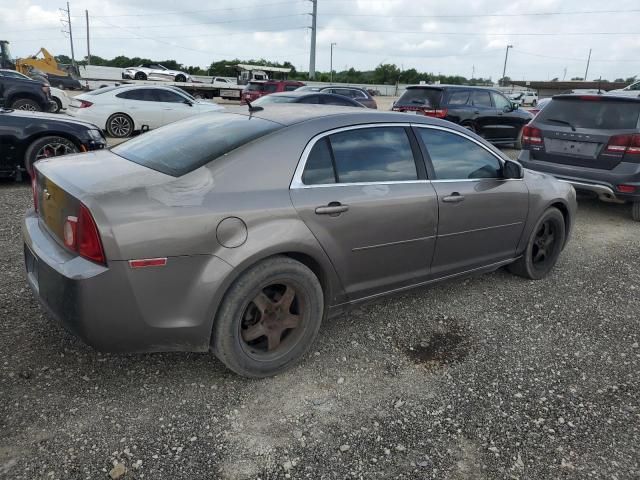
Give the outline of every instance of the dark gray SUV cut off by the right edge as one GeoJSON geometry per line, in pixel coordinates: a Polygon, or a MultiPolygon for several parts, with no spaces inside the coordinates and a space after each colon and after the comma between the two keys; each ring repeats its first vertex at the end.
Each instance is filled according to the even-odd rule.
{"type": "Polygon", "coordinates": [[[556,95],[522,133],[518,160],[601,200],[633,202],[640,221],[640,98],[556,95]]]}

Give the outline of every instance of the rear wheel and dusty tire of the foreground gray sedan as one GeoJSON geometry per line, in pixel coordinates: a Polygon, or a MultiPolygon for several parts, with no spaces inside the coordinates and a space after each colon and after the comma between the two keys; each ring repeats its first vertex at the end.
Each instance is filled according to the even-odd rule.
{"type": "Polygon", "coordinates": [[[324,296],[314,273],[291,258],[272,257],[243,273],[225,294],[213,327],[213,351],[238,375],[276,375],[309,350],[323,315],[324,296]],[[289,288],[293,293],[285,295],[289,288]],[[295,327],[288,326],[291,318],[297,318],[295,327]]]}

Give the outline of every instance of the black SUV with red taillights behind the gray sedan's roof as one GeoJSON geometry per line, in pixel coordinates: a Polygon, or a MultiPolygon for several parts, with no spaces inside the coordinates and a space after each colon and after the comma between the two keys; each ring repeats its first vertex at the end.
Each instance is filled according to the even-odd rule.
{"type": "Polygon", "coordinates": [[[494,144],[520,147],[522,127],[533,118],[497,90],[460,85],[413,85],[393,111],[443,118],[494,144]]]}

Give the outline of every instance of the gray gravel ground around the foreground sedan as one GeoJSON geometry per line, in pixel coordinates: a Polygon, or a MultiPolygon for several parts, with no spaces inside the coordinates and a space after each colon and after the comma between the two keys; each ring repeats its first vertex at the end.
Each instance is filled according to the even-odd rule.
{"type": "Polygon", "coordinates": [[[24,280],[30,202],[0,184],[0,478],[640,477],[627,206],[582,201],[545,280],[501,270],[360,307],[251,381],[210,354],[100,354],[52,323],[24,280]]]}

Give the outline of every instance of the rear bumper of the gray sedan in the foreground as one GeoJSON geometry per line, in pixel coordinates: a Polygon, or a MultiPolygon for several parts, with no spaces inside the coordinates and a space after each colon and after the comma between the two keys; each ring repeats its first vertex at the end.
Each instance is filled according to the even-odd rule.
{"type": "Polygon", "coordinates": [[[208,350],[217,307],[211,299],[231,268],[222,260],[200,255],[172,257],[162,268],[101,266],[61,247],[33,211],[22,227],[29,286],[86,344],[106,352],[208,350]]]}

